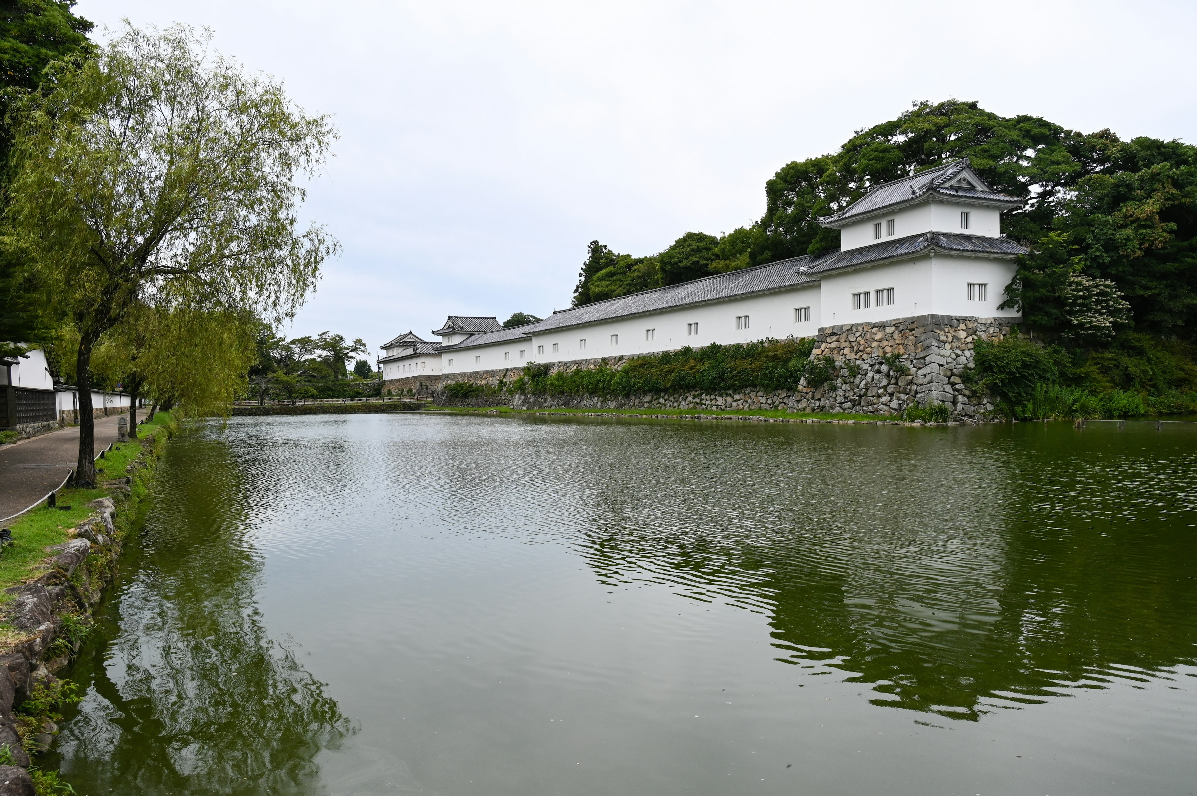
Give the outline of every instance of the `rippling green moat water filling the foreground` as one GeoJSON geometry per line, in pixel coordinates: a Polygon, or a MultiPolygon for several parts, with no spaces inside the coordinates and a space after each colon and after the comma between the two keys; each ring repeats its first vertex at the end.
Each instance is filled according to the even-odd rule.
{"type": "Polygon", "coordinates": [[[79,794],[1197,791],[1197,426],[243,418],[153,493],[79,794]]]}

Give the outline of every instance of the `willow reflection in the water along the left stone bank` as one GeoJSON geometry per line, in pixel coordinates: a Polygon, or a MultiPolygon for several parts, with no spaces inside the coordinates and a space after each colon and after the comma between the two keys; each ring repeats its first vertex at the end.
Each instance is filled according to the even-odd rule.
{"type": "Polygon", "coordinates": [[[223,443],[171,443],[130,572],[73,679],[87,687],[59,749],[79,792],[308,792],[348,731],[255,606],[243,475],[223,443]]]}

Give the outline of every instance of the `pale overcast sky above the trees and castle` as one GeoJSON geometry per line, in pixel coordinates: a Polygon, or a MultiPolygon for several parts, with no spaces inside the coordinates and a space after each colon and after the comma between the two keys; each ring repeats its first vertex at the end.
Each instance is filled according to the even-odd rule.
{"type": "Polygon", "coordinates": [[[587,243],[655,254],[913,99],[1197,140],[1192,2],[81,0],[211,26],[340,140],[305,213],[341,241],[288,336],[378,345],[569,306],[587,243]]]}

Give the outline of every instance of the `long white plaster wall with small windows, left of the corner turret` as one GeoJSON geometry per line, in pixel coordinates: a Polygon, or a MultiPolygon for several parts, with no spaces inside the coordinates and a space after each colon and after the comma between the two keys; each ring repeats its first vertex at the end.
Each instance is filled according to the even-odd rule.
{"type": "Polygon", "coordinates": [[[652,312],[634,317],[614,318],[585,326],[567,327],[534,334],[531,340],[479,346],[444,354],[444,372],[461,373],[476,370],[522,367],[529,361],[558,363],[597,357],[634,357],[638,354],[672,351],[682,346],[707,346],[712,342],[728,345],[752,342],[764,338],[782,339],[814,336],[821,326],[819,285],[778,291],[724,302],[700,304],[680,309],[652,312]],[[810,308],[810,320],[795,322],[794,310],[810,308]],[[748,328],[736,328],[736,316],[748,316],[748,328]],[[688,335],[686,327],[698,323],[698,334],[688,335]],[[652,340],[645,332],[655,329],[652,340]],[[612,344],[610,336],[619,341],[612,344]],[[587,341],[587,347],[581,341],[587,341]],[[558,350],[553,351],[553,344],[558,350]],[[543,348],[542,348],[543,347],[543,348]],[[521,357],[519,352],[524,356],[521,357]],[[504,354],[510,354],[505,358],[504,354]],[[479,361],[475,361],[475,357],[479,361]],[[449,365],[449,359],[454,360],[449,365]]]}

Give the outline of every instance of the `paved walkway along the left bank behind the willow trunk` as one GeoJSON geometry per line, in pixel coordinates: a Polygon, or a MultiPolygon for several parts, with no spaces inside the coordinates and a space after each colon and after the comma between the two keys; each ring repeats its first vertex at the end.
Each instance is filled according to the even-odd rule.
{"type": "MultiPolygon", "coordinates": [[[[119,417],[96,418],[96,452],[116,442],[119,417]]],[[[61,484],[78,461],[79,426],[0,448],[0,517],[28,509],[61,484]]]]}

